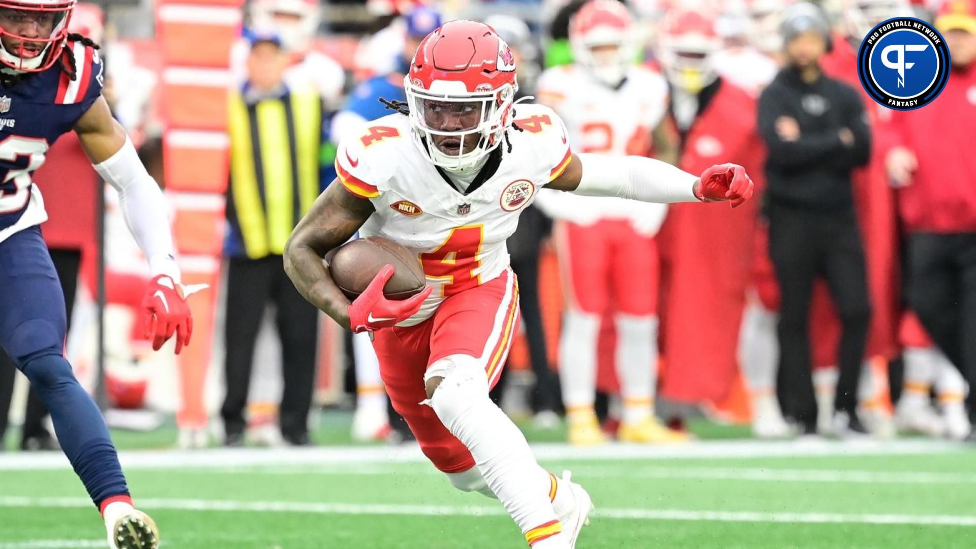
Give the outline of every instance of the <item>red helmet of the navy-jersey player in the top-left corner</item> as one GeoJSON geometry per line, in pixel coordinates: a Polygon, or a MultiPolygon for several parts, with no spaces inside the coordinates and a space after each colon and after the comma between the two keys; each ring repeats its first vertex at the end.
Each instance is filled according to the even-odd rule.
{"type": "Polygon", "coordinates": [[[0,0],[0,63],[47,70],[61,56],[75,0],[0,0]]]}

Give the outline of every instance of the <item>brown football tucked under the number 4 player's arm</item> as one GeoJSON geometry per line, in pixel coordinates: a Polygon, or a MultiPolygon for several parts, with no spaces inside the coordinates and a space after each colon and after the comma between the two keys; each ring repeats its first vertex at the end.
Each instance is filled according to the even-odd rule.
{"type": "Polygon", "coordinates": [[[350,301],[366,289],[385,265],[393,266],[393,276],[383,287],[387,299],[407,299],[427,286],[417,256],[380,236],[350,240],[326,254],[325,262],[332,279],[350,301]]]}

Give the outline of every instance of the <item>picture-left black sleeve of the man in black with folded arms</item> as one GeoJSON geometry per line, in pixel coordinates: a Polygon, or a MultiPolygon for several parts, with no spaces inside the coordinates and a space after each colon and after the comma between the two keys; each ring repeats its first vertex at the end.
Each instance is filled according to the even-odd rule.
{"type": "Polygon", "coordinates": [[[769,86],[759,96],[759,135],[766,143],[769,154],[766,165],[793,169],[829,160],[844,145],[836,131],[808,134],[800,133],[796,141],[783,141],[776,133],[776,120],[780,116],[795,117],[782,99],[778,86],[769,86]]]}

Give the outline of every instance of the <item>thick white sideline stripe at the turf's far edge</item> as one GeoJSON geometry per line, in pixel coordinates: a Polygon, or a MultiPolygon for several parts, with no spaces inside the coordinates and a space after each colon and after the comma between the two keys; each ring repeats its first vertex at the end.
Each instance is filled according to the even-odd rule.
{"type": "MultiPolygon", "coordinates": [[[[578,448],[564,443],[533,444],[542,460],[606,461],[632,459],[722,459],[766,457],[821,457],[858,455],[917,455],[964,452],[962,443],[922,439],[896,441],[700,441],[680,445],[606,444],[578,448]]],[[[123,467],[169,469],[185,467],[226,468],[261,465],[320,465],[426,462],[416,444],[405,446],[323,446],[317,448],[215,448],[207,450],[122,451],[123,467]]],[[[57,452],[0,455],[0,471],[30,471],[69,468],[57,452]]]]}

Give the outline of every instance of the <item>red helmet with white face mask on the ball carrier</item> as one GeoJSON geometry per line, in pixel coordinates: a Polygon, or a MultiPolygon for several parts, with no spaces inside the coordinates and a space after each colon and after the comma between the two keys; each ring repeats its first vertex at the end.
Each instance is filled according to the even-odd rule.
{"type": "Polygon", "coordinates": [[[403,87],[414,142],[434,164],[464,169],[498,147],[511,125],[515,58],[487,24],[449,21],[421,42],[403,87]],[[472,134],[477,145],[465,150],[472,134]]]}

